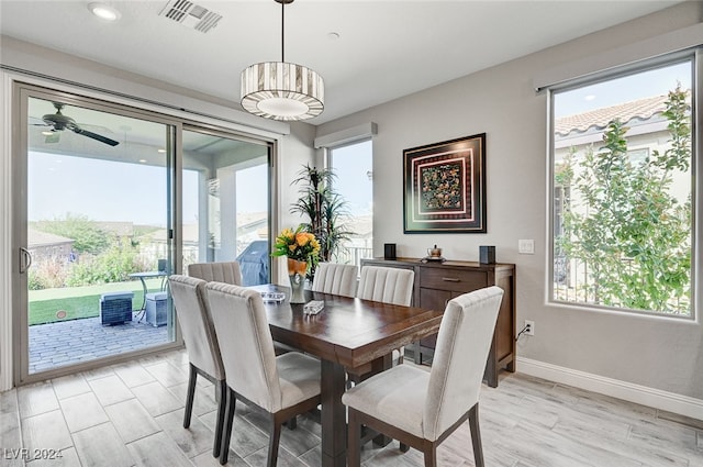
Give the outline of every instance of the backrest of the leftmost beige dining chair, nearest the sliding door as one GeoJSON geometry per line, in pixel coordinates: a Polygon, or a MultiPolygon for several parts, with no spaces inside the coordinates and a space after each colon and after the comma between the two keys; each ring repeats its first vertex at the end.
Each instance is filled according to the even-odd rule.
{"type": "Polygon", "coordinates": [[[180,275],[168,278],[188,359],[215,379],[225,377],[220,345],[208,307],[204,280],[180,275]]]}

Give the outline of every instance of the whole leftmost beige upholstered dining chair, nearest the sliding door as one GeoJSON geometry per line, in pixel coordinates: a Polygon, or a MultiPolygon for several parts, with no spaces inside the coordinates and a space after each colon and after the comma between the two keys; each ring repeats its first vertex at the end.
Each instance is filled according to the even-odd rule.
{"type": "Polygon", "coordinates": [[[190,426],[193,411],[193,398],[196,394],[196,380],[201,375],[215,385],[215,399],[217,400],[217,420],[215,427],[215,441],[212,455],[220,456],[222,446],[222,426],[225,415],[226,383],[224,366],[220,357],[220,346],[215,335],[214,325],[208,308],[205,282],[202,279],[172,275],[168,283],[176,308],[176,315],[183,334],[186,349],[188,352],[189,378],[186,396],[186,414],[183,427],[190,426]]]}

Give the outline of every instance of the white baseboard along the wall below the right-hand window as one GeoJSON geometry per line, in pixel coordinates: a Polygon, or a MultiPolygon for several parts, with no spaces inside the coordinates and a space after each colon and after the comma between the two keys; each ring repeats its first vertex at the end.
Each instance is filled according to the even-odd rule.
{"type": "Polygon", "coordinates": [[[703,420],[703,400],[517,357],[518,373],[703,420]]]}

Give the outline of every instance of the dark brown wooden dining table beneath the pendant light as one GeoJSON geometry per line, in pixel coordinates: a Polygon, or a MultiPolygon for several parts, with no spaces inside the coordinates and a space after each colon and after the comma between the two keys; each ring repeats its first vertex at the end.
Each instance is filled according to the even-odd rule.
{"type": "Polygon", "coordinates": [[[265,296],[286,293],[280,302],[265,302],[274,341],[320,358],[322,466],[345,466],[347,422],[342,396],[346,390],[346,371],[364,368],[375,374],[389,368],[394,348],[438,332],[444,310],[305,290],[305,302],[324,302],[317,314],[306,314],[303,303],[289,302],[288,287],[253,288],[265,296]]]}

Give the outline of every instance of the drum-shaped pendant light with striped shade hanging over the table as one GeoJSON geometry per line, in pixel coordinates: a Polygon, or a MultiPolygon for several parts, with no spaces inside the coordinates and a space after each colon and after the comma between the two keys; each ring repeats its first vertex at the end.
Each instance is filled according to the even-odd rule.
{"type": "Polygon", "coordinates": [[[242,107],[249,113],[272,120],[306,120],[324,109],[324,82],[314,70],[286,63],[286,4],[281,4],[281,60],[254,64],[242,71],[242,107]]]}

